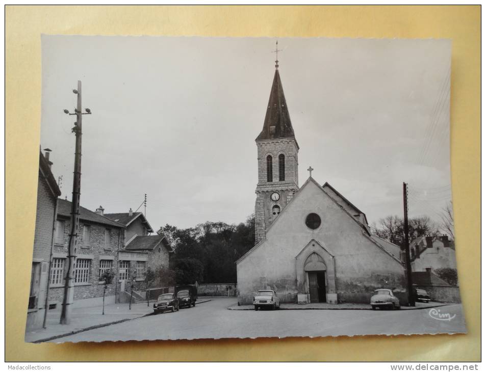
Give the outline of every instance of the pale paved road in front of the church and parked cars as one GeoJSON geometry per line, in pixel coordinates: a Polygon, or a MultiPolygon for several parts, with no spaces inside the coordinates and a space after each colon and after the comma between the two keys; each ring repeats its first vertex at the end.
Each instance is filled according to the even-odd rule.
{"type": "MultiPolygon", "coordinates": [[[[214,299],[178,312],[150,315],[129,322],[54,340],[127,341],[228,337],[339,336],[465,332],[460,304],[439,307],[451,321],[436,320],[431,309],[373,310],[228,310],[234,299],[214,299]]],[[[442,315],[444,316],[444,315],[442,315]]],[[[439,317],[439,316],[438,316],[439,317]]]]}

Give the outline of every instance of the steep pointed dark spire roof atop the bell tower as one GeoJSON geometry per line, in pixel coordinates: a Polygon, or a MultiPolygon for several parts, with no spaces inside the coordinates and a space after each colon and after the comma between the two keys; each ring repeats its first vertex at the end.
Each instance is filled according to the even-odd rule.
{"type": "Polygon", "coordinates": [[[263,129],[256,141],[278,138],[295,138],[295,135],[285,100],[284,88],[282,87],[282,81],[280,81],[278,68],[276,68],[263,129]]]}

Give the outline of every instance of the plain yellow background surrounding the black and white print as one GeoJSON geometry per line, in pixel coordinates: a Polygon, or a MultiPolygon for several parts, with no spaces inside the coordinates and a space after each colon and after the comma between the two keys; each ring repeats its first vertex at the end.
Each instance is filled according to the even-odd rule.
{"type": "Polygon", "coordinates": [[[6,7],[6,360],[479,360],[479,6],[6,7]],[[452,39],[451,167],[467,335],[29,344],[45,34],[452,39]]]}

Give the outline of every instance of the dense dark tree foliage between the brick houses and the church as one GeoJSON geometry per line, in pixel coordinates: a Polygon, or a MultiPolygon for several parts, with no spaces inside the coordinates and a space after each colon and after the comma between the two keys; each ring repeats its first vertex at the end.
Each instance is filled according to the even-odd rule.
{"type": "Polygon", "coordinates": [[[170,268],[177,284],[234,283],[236,261],[254,246],[254,216],[238,225],[204,222],[187,229],[162,226],[175,255],[170,268]]]}

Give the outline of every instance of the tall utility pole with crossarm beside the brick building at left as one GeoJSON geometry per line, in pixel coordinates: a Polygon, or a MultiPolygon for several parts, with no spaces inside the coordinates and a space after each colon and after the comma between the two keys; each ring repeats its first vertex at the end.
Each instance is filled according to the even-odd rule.
{"type": "Polygon", "coordinates": [[[64,284],[64,300],[61,311],[61,324],[71,322],[72,303],[74,300],[74,275],[76,268],[76,248],[78,247],[78,230],[80,221],[80,195],[81,195],[81,135],[82,135],[82,118],[85,114],[91,114],[91,110],[86,109],[86,113],[81,112],[81,81],[78,80],[78,89],[72,92],[78,95],[78,104],[74,113],[64,110],[65,114],[76,115],[76,122],[71,129],[76,136],[76,145],[74,150],[74,172],[72,179],[72,201],[71,201],[71,231],[69,233],[68,246],[68,265],[66,272],[66,281],[64,284]]]}

